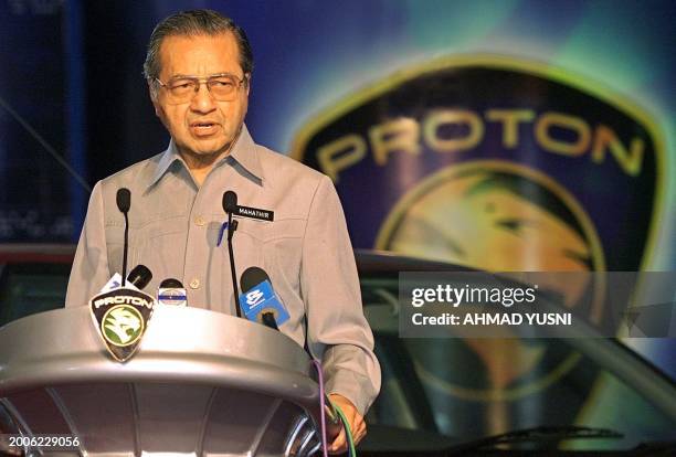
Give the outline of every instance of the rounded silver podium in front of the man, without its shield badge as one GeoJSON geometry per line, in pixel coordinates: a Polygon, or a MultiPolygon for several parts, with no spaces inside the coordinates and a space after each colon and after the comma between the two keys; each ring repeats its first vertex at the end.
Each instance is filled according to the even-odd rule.
{"type": "Polygon", "coordinates": [[[236,317],[157,306],[119,363],[88,307],[57,309],[0,328],[0,433],[77,437],[87,456],[307,456],[314,376],[295,341],[236,317]]]}

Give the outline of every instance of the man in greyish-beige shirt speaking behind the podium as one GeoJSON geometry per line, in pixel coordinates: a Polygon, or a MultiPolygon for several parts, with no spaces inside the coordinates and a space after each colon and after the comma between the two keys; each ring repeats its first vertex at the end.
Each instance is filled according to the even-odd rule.
{"type": "MultiPolygon", "coordinates": [[[[234,315],[228,249],[218,243],[222,195],[233,190],[240,204],[274,211],[274,222],[240,219],[239,272],[268,273],[291,315],[281,330],[323,359],[329,397],[361,439],[380,368],[345,216],[327,177],[253,142],[244,126],[253,70],[246,35],[214,11],[178,13],[156,26],[144,70],[171,141],[94,188],[66,305],[85,305],[122,270],[124,219],[115,195],[128,188],[129,265],[154,273],[148,290],[182,278],[190,306],[234,315]]],[[[329,448],[345,450],[345,433],[329,448]]]]}

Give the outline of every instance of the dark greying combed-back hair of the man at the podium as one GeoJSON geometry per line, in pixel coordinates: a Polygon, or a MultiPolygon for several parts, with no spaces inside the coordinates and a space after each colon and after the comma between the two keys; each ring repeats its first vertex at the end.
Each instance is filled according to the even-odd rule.
{"type": "Polygon", "coordinates": [[[159,77],[161,71],[159,51],[165,38],[218,35],[226,32],[232,32],[237,42],[240,66],[244,75],[251,74],[253,72],[253,53],[244,30],[220,12],[191,10],[171,14],[155,26],[148,42],[148,52],[146,62],[144,62],[144,76],[148,82],[159,77]]]}

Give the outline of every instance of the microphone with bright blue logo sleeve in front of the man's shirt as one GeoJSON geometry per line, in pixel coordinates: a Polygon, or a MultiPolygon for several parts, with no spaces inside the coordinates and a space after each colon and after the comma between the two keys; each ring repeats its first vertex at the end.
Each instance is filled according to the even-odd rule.
{"type": "Polygon", "coordinates": [[[246,319],[276,330],[288,320],[288,311],[276,296],[270,276],[263,268],[246,268],[242,274],[241,286],[240,304],[246,319]]]}

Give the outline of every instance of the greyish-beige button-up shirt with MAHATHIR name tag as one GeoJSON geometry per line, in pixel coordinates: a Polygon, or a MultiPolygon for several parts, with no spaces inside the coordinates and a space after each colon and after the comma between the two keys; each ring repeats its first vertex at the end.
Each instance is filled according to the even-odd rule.
{"type": "Polygon", "coordinates": [[[201,187],[173,142],[148,160],[99,181],[89,199],[66,306],[87,305],[114,273],[122,273],[124,216],[119,188],[131,192],[129,269],[152,272],[154,295],[166,278],[188,291],[188,305],[235,315],[226,243],[216,246],[225,221],[223,193],[239,204],[274,211],[274,221],[239,217],[233,237],[237,278],[257,266],[270,275],[288,310],[279,330],[323,359],[328,393],[365,413],[380,390],[373,336],[363,317],[355,256],[345,215],[324,174],[255,145],[246,127],[230,155],[201,187]]]}

